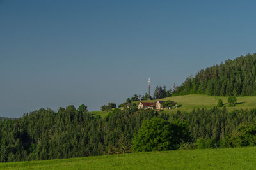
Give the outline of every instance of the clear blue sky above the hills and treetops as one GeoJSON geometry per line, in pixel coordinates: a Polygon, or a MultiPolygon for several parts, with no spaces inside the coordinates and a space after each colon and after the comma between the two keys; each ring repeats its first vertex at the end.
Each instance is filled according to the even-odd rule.
{"type": "Polygon", "coordinates": [[[1,1],[0,116],[99,110],[255,53],[253,1],[1,1]]]}

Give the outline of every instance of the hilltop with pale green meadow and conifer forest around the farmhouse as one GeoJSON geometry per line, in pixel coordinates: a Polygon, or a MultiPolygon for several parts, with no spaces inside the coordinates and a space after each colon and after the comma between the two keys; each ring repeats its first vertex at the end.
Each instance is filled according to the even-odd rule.
{"type": "MultiPolygon", "coordinates": [[[[191,111],[196,108],[212,108],[216,106],[218,99],[222,99],[227,107],[228,96],[238,96],[235,107],[227,107],[228,111],[252,109],[256,106],[256,53],[253,55],[241,55],[234,60],[226,60],[225,63],[202,69],[190,76],[180,86],[166,90],[157,86],[154,91],[153,100],[148,99],[148,94],[127,98],[125,104],[135,103],[136,106],[142,101],[175,101],[177,108],[164,110],[165,113],[175,111],[191,111]],[[140,97],[141,96],[141,97],[140,97]],[[172,97],[170,97],[172,96],[172,97]]],[[[94,115],[105,117],[111,111],[93,111],[94,115]]]]}

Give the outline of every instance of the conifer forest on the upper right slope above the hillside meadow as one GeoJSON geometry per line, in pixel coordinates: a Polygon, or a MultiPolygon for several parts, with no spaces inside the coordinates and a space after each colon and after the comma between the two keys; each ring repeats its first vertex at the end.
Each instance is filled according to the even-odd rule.
{"type": "Polygon", "coordinates": [[[256,95],[256,53],[228,59],[225,63],[202,69],[190,76],[173,96],[184,94],[209,94],[214,96],[256,95]]]}

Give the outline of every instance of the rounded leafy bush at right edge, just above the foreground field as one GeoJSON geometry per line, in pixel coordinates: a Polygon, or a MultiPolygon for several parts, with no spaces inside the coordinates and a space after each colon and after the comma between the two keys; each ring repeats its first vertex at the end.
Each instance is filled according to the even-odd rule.
{"type": "Polygon", "coordinates": [[[256,124],[239,126],[223,140],[223,146],[227,148],[256,146],[256,124]]]}

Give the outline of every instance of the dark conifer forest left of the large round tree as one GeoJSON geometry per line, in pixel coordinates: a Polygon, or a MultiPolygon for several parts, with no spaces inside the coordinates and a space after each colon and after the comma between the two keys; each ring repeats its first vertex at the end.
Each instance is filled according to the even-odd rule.
{"type": "Polygon", "coordinates": [[[131,152],[131,138],[154,110],[115,108],[106,118],[86,106],[40,109],[0,121],[0,162],[63,159],[131,152]]]}

